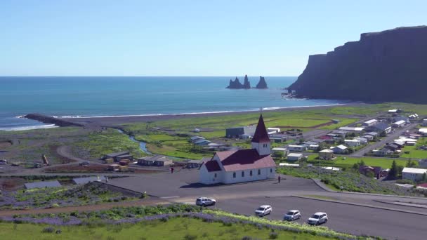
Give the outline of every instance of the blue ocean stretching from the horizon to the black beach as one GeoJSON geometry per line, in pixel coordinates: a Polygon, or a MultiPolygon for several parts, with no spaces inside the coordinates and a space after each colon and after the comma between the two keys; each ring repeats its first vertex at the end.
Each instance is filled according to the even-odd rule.
{"type": "MultiPolygon", "coordinates": [[[[243,76],[238,76],[243,83],[243,76]]],[[[53,116],[127,116],[233,112],[281,107],[337,105],[339,100],[283,99],[296,76],[265,76],[268,89],[227,89],[235,76],[2,76],[0,130],[48,128],[22,119],[53,116]]],[[[259,76],[249,76],[256,86],[259,76]]]]}

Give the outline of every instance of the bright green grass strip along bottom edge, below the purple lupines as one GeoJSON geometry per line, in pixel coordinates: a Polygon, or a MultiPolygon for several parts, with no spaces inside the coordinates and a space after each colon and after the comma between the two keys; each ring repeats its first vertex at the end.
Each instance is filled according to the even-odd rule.
{"type": "MultiPolygon", "coordinates": [[[[331,239],[275,230],[276,239],[331,239]]],[[[205,222],[195,218],[170,218],[136,224],[53,226],[35,224],[0,223],[0,239],[269,239],[271,229],[254,225],[205,222]],[[52,229],[53,232],[50,232],[52,229]],[[60,234],[56,234],[60,229],[60,234]],[[17,234],[19,232],[19,234],[17,234]]]]}

